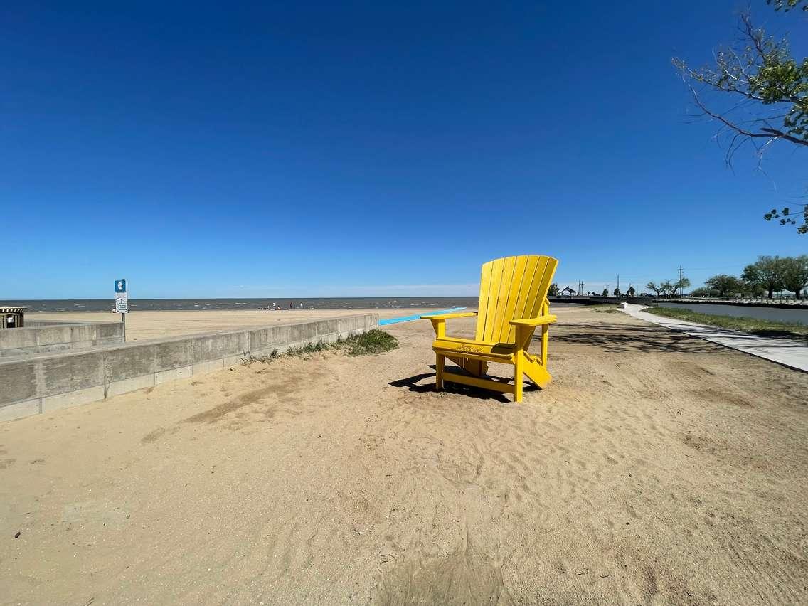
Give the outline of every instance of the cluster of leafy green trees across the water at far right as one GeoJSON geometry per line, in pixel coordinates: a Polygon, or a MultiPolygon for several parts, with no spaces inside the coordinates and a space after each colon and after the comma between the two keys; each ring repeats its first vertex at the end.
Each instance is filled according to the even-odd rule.
{"type": "Polygon", "coordinates": [[[691,292],[692,297],[762,297],[775,292],[792,292],[794,297],[806,295],[808,287],[808,255],[798,257],[760,256],[743,268],[740,277],[720,274],[710,276],[705,285],[691,292]]]}

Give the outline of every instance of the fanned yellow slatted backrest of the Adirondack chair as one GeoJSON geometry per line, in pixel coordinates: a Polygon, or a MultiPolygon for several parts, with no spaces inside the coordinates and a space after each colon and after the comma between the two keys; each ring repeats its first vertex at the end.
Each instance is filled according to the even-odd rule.
{"type": "Polygon", "coordinates": [[[513,343],[508,322],[538,318],[558,260],[543,255],[494,259],[482,266],[478,304],[478,341],[513,343]]]}

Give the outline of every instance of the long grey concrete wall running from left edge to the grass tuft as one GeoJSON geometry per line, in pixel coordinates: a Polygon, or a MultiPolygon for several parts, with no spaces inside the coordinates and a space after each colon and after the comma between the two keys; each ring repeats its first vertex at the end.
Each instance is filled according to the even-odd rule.
{"type": "MultiPolygon", "coordinates": [[[[265,356],[319,340],[359,335],[378,314],[356,314],[299,324],[151,339],[90,351],[0,359],[0,421],[191,377],[237,364],[246,351],[265,356]]],[[[24,330],[24,329],[13,329],[24,330]]]]}

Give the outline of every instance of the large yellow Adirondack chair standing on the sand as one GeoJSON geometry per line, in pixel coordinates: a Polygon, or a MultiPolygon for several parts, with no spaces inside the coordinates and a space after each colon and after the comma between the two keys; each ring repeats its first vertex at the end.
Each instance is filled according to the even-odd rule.
{"type": "Polygon", "coordinates": [[[523,373],[542,389],[549,384],[547,331],[556,317],[549,313],[547,292],[557,265],[557,259],[539,255],[494,259],[482,266],[478,311],[421,316],[435,329],[436,389],[452,381],[513,393],[516,402],[522,402],[523,373]],[[447,320],[471,316],[477,316],[474,339],[446,336],[447,320]],[[532,356],[528,346],[537,326],[541,326],[541,354],[532,356]],[[468,374],[444,372],[446,358],[468,374]],[[513,364],[513,385],[482,378],[489,362],[513,364]]]}

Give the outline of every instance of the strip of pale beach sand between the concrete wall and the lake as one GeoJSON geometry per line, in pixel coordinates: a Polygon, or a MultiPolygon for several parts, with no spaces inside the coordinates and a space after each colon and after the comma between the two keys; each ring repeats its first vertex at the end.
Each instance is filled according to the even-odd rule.
{"type": "MultiPolygon", "coordinates": [[[[379,314],[380,318],[400,318],[426,314],[431,309],[283,309],[281,311],[211,310],[211,311],[137,311],[126,315],[126,340],[158,339],[177,335],[193,335],[213,330],[230,330],[255,326],[271,326],[274,322],[306,322],[353,314],[379,314]]],[[[49,322],[120,322],[119,314],[110,312],[58,312],[26,314],[28,320],[49,322]]]]}

